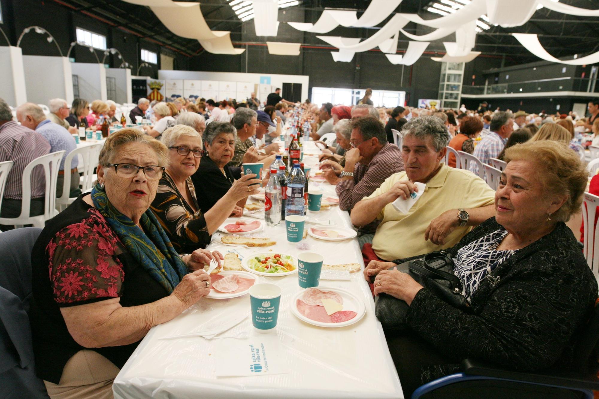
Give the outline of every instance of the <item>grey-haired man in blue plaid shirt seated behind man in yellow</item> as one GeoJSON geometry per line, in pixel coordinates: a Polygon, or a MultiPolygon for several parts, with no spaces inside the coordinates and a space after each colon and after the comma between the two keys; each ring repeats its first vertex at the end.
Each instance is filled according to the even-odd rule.
{"type": "MultiPolygon", "coordinates": [[[[497,111],[491,118],[489,134],[479,141],[474,149],[474,156],[483,164],[488,164],[491,158],[497,158],[514,131],[514,117],[511,112],[497,111]]],[[[479,165],[470,162],[468,170],[474,174],[479,173],[479,165]]]]}

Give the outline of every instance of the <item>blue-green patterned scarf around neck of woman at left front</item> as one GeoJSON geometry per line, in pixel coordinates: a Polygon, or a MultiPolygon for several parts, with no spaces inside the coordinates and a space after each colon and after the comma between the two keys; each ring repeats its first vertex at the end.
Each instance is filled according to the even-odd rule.
{"type": "Polygon", "coordinates": [[[131,255],[170,294],[189,271],[151,210],[141,215],[143,231],[120,213],[99,184],[92,189],[93,205],[104,216],[131,255]]]}

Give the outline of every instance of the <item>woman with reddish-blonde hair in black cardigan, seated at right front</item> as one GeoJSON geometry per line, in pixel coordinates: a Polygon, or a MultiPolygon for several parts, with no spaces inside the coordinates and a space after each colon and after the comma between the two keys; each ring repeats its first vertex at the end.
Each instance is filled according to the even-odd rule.
{"type": "Polygon", "coordinates": [[[564,223],[580,211],[587,172],[565,144],[549,140],[511,147],[506,162],[495,217],[446,250],[471,312],[388,270],[408,259],[372,261],[364,271],[376,276],[375,295],[410,306],[410,333],[387,337],[406,397],[465,358],[515,370],[570,366],[597,299],[597,280],[564,223]]]}

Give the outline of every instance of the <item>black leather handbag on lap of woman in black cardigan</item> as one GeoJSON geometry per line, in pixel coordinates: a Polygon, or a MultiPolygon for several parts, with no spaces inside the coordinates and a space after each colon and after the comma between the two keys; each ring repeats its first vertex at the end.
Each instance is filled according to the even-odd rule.
{"type": "MultiPolygon", "coordinates": [[[[453,307],[467,310],[468,302],[462,295],[462,283],[453,274],[453,260],[445,252],[431,252],[424,258],[403,262],[389,270],[397,269],[410,274],[420,285],[453,307]]],[[[379,294],[374,300],[377,319],[383,329],[400,332],[406,328],[408,304],[388,294],[379,294]]]]}

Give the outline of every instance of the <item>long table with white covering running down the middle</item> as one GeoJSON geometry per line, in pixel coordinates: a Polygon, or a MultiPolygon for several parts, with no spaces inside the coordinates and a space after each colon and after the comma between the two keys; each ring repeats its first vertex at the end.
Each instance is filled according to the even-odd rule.
{"type": "MultiPolygon", "coordinates": [[[[305,152],[316,153],[312,142],[305,152]]],[[[317,165],[316,156],[304,156],[307,165],[317,165]]],[[[334,195],[328,183],[312,183],[311,187],[334,195]]],[[[349,214],[338,207],[308,213],[308,217],[330,220],[331,224],[352,228],[349,214]]],[[[286,240],[284,222],[265,226],[262,237],[277,241],[275,246],[261,249],[223,246],[220,233],[213,235],[208,249],[222,253],[235,252],[248,256],[256,252],[282,252],[297,256],[305,250],[286,240]]],[[[310,225],[307,225],[310,226],[310,225]]],[[[257,235],[258,235],[257,234],[257,235]]],[[[326,264],[359,263],[364,267],[358,241],[322,241],[310,237],[301,241],[310,252],[321,253],[326,264]]],[[[386,345],[382,327],[374,316],[374,301],[361,273],[350,281],[321,280],[320,286],[343,288],[358,295],[366,306],[364,318],[341,328],[314,327],[291,313],[291,298],[301,288],[297,274],[284,277],[259,277],[283,289],[276,333],[280,341],[282,361],[289,368],[286,374],[264,374],[248,377],[216,377],[216,356],[219,340],[202,337],[161,340],[173,335],[199,331],[201,325],[222,315],[250,312],[249,295],[229,300],[202,298],[177,318],[158,325],[146,335],[129,361],[114,380],[116,398],[264,398],[264,397],[343,397],[402,398],[400,381],[386,345]]],[[[250,341],[264,334],[253,331],[250,318],[229,330],[231,334],[249,331],[250,341]]],[[[237,338],[226,338],[232,340],[237,338]]],[[[220,343],[222,344],[222,343],[220,343]]]]}

